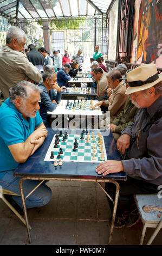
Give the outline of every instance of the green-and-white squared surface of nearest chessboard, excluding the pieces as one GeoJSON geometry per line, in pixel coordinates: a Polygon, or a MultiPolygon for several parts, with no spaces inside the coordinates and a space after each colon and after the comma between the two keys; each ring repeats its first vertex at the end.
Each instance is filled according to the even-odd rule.
{"type": "MultiPolygon", "coordinates": [[[[47,151],[47,154],[44,158],[44,161],[55,161],[55,159],[59,161],[59,159],[57,159],[57,155],[58,155],[58,152],[60,151],[60,148],[62,148],[62,151],[63,151],[63,154],[61,155],[62,162],[91,162],[91,163],[102,162],[100,160],[101,153],[98,145],[98,141],[99,141],[99,138],[97,138],[98,136],[95,136],[95,141],[93,141],[92,137],[89,135],[89,143],[86,143],[87,135],[83,135],[84,139],[80,139],[80,137],[81,135],[68,135],[68,138],[66,139],[65,142],[62,141],[63,136],[59,137],[60,139],[60,142],[58,144],[59,148],[54,148],[54,144],[55,144],[55,136],[54,136],[49,146],[49,149],[47,151]],[[77,139],[78,148],[76,149],[76,151],[73,151],[75,139],[77,139]],[[94,144],[96,145],[95,160],[92,159],[94,144]],[[54,159],[50,159],[51,151],[54,152],[54,156],[55,156],[54,159]]],[[[107,154],[106,154],[104,141],[103,141],[103,153],[106,161],[107,154]]]]}

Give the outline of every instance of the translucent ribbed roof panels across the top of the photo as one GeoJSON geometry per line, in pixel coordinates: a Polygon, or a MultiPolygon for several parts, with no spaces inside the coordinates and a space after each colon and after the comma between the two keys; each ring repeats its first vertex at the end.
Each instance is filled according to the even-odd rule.
{"type": "Polygon", "coordinates": [[[112,0],[0,0],[0,11],[18,19],[106,14],[112,0]]]}

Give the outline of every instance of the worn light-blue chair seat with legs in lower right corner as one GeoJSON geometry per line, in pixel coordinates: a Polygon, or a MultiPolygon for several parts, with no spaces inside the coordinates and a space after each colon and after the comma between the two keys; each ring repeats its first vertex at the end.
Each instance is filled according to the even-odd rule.
{"type": "Polygon", "coordinates": [[[142,245],[146,233],[146,228],[155,228],[154,233],[147,242],[151,245],[155,236],[162,228],[162,199],[158,198],[158,194],[136,194],[134,196],[137,204],[141,221],[144,224],[140,245],[142,245]]]}

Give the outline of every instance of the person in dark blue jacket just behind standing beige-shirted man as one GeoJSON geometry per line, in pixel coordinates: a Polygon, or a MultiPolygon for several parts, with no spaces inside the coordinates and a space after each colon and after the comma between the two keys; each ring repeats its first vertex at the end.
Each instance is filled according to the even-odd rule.
{"type": "Polygon", "coordinates": [[[45,62],[43,55],[40,52],[38,52],[35,46],[32,44],[28,46],[28,49],[29,49],[29,52],[27,53],[27,58],[29,59],[29,62],[33,63],[33,65],[38,70],[43,72],[43,66],[45,62]]]}

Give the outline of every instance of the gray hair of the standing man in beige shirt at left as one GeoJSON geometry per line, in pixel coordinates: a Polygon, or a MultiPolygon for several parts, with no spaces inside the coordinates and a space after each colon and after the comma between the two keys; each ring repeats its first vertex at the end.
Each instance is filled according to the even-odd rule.
{"type": "Polygon", "coordinates": [[[13,39],[17,39],[18,44],[21,44],[21,42],[24,41],[24,38],[27,39],[24,31],[19,27],[12,26],[10,27],[5,40],[7,44],[10,44],[13,39]]]}

